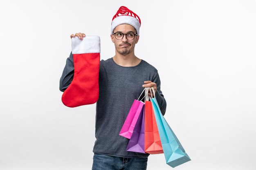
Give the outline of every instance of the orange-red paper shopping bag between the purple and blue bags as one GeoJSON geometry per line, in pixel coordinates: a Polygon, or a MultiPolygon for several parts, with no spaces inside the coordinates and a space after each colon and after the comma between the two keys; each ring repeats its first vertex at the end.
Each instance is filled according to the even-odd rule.
{"type": "Polygon", "coordinates": [[[164,153],[152,103],[147,101],[149,100],[148,88],[146,88],[145,95],[145,152],[149,154],[164,153]]]}

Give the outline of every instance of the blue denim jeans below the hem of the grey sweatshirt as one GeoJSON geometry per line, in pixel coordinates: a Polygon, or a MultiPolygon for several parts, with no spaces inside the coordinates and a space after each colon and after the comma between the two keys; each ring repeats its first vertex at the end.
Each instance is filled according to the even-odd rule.
{"type": "Polygon", "coordinates": [[[146,170],[147,157],[123,158],[94,153],[92,170],[146,170]]]}

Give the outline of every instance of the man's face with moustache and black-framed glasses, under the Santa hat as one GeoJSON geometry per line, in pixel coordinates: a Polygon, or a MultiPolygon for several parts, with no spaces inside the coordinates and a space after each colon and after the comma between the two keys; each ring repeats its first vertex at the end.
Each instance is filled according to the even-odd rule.
{"type": "MultiPolygon", "coordinates": [[[[118,25],[114,31],[114,33],[134,33],[136,34],[136,29],[129,24],[121,24],[118,25]]],[[[126,36],[121,40],[117,40],[115,35],[110,35],[112,42],[115,43],[116,52],[121,55],[128,55],[130,53],[134,53],[135,44],[139,41],[139,36],[136,35],[133,40],[127,40],[126,36]]]]}

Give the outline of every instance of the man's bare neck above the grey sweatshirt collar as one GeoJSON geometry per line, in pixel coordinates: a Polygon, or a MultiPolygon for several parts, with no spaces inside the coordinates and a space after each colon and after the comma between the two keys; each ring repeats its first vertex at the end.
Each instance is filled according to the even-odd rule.
{"type": "Polygon", "coordinates": [[[136,57],[134,53],[130,53],[128,55],[116,53],[116,55],[113,57],[113,60],[118,65],[124,67],[137,66],[141,62],[141,60],[136,57]]]}

